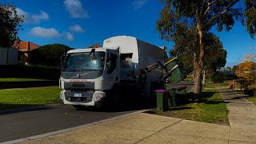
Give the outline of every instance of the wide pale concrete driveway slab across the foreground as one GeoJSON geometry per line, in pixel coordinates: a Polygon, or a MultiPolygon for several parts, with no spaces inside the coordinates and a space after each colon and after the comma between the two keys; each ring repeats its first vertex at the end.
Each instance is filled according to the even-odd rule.
{"type": "Polygon", "coordinates": [[[22,143],[228,144],[255,142],[256,137],[247,138],[241,130],[230,129],[230,126],[141,113],[22,143]]]}

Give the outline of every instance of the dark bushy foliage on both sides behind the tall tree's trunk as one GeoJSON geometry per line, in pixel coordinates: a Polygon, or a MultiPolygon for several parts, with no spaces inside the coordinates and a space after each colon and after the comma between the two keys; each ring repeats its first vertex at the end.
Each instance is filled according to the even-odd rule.
{"type": "MultiPolygon", "coordinates": [[[[193,31],[185,24],[178,25],[178,30],[174,34],[174,49],[170,50],[170,56],[178,57],[178,60],[182,62],[182,68],[186,71],[186,74],[190,74],[193,71],[193,50],[194,50],[194,37],[193,31]]],[[[214,73],[226,64],[226,50],[223,49],[222,42],[219,38],[212,34],[206,33],[205,42],[205,70],[214,73]]]]}

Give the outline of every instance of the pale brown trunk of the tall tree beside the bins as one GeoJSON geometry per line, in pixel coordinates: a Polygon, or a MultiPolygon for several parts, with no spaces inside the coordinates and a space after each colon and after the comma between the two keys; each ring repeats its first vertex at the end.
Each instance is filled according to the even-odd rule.
{"type": "Polygon", "coordinates": [[[197,24],[197,30],[199,36],[199,50],[196,50],[194,54],[194,94],[196,95],[196,99],[198,99],[198,95],[202,93],[202,70],[204,66],[203,31],[200,22],[197,24]]]}

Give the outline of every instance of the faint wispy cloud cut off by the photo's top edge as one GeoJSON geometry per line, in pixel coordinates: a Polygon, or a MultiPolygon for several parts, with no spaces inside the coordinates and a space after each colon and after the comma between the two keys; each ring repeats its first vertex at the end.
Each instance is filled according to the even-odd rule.
{"type": "Polygon", "coordinates": [[[79,0],[65,0],[64,5],[71,18],[89,18],[88,12],[83,8],[79,0]]]}

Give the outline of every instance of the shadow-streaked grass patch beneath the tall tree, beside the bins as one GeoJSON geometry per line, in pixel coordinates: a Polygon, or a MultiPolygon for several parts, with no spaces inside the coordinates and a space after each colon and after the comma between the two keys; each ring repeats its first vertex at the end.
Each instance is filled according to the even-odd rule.
{"type": "MultiPolygon", "coordinates": [[[[214,86],[208,85],[206,88],[214,88],[214,86]]],[[[229,125],[226,104],[217,90],[204,90],[198,103],[191,102],[166,112],[151,110],[149,113],[198,122],[229,125]]]]}

